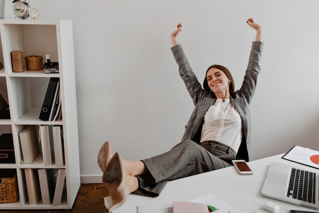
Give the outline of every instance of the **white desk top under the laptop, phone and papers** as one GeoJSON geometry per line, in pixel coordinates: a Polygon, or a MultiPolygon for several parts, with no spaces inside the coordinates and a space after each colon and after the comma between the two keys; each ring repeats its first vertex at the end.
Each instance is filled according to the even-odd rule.
{"type": "MultiPolygon", "coordinates": [[[[252,212],[253,208],[259,208],[262,212],[269,213],[270,211],[262,208],[263,204],[267,201],[280,206],[277,213],[288,213],[290,209],[315,211],[310,208],[261,196],[261,188],[272,161],[302,167],[301,164],[281,159],[281,156],[283,154],[250,161],[248,164],[254,171],[253,175],[238,175],[234,167],[229,167],[170,181],[165,186],[161,195],[156,198],[130,194],[127,201],[122,206],[114,209],[113,213],[137,213],[137,206],[139,205],[156,203],[171,203],[173,205],[173,201],[190,201],[206,196],[209,193],[234,208],[248,213],[252,212]]],[[[306,168],[318,172],[316,169],[306,168]]]]}

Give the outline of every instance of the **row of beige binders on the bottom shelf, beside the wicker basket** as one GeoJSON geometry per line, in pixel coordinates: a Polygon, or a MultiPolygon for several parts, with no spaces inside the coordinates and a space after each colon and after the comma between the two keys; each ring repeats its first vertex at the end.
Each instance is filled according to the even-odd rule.
{"type": "Polygon", "coordinates": [[[66,200],[65,169],[24,169],[29,205],[61,205],[66,200]]]}

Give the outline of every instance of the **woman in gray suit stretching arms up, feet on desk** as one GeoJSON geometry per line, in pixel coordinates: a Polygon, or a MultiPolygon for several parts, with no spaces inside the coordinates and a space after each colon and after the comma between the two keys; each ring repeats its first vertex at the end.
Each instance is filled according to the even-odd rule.
{"type": "Polygon", "coordinates": [[[164,154],[141,161],[127,161],[118,153],[112,156],[110,143],[104,143],[98,154],[98,164],[103,171],[102,182],[113,201],[108,211],[122,205],[130,193],[156,197],[170,180],[229,167],[233,159],[249,160],[249,104],[260,73],[263,42],[261,27],[251,18],[247,23],[256,30],[256,39],[243,85],[237,91],[234,91],[229,70],[221,65],[208,67],[204,89],[201,87],[181,44],[177,43],[181,24],[177,25],[170,36],[171,50],[195,109],[182,142],[164,154]]]}

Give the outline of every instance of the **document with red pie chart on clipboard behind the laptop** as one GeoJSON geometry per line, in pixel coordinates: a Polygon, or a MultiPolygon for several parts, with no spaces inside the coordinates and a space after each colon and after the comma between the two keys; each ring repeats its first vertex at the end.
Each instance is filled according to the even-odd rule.
{"type": "Polygon", "coordinates": [[[319,169],[319,151],[316,150],[294,146],[282,158],[319,169]]]}

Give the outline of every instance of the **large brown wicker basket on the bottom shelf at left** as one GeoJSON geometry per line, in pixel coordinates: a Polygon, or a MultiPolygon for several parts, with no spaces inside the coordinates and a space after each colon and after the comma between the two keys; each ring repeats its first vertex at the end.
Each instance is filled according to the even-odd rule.
{"type": "Polygon", "coordinates": [[[6,176],[3,176],[2,174],[2,176],[0,176],[0,181],[0,203],[18,202],[19,192],[16,172],[10,171],[6,176]]]}

